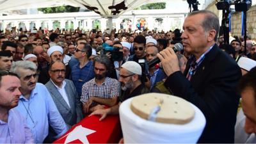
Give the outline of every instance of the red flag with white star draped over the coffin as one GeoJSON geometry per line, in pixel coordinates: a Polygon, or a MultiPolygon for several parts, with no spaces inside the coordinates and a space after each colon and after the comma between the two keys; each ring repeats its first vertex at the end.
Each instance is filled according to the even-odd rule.
{"type": "Polygon", "coordinates": [[[54,143],[118,143],[122,136],[118,115],[86,116],[54,143]]]}

